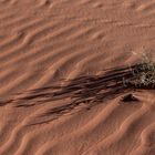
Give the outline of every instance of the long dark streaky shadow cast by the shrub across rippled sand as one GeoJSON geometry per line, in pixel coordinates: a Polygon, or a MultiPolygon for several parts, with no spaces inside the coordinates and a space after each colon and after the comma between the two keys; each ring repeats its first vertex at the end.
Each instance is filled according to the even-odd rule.
{"type": "MultiPolygon", "coordinates": [[[[31,90],[28,91],[25,95],[21,93],[21,95],[17,97],[1,102],[1,106],[12,103],[16,107],[30,107],[39,104],[52,104],[52,101],[70,99],[68,104],[52,107],[43,115],[60,116],[64,113],[70,113],[81,104],[85,104],[85,107],[89,110],[106,100],[138,89],[138,86],[136,87],[132,83],[124,83],[124,81],[132,81],[134,78],[133,72],[136,72],[137,69],[141,69],[141,64],[112,69],[101,75],[81,76],[64,81],[63,85],[55,84],[31,90]]],[[[141,72],[141,70],[138,70],[138,72],[141,72]]]]}

